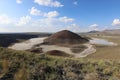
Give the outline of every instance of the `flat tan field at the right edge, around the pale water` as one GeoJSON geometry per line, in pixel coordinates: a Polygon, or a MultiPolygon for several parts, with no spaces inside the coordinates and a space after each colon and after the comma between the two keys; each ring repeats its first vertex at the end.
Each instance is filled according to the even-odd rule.
{"type": "Polygon", "coordinates": [[[119,59],[120,58],[120,36],[111,34],[90,35],[90,37],[102,38],[114,42],[117,46],[94,45],[96,52],[88,55],[87,58],[93,59],[119,59]],[[108,37],[106,37],[108,36],[108,37]]]}

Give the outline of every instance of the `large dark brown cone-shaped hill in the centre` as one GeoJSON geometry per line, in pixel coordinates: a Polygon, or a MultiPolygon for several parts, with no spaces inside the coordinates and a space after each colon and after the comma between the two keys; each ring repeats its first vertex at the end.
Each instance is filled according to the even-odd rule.
{"type": "Polygon", "coordinates": [[[80,44],[89,40],[68,30],[57,32],[44,40],[45,44],[80,44]]]}

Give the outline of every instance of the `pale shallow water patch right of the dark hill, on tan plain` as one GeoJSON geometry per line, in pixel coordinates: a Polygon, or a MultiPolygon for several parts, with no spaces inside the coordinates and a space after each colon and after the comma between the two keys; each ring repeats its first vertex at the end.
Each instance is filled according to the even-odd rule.
{"type": "Polygon", "coordinates": [[[92,38],[92,40],[90,40],[90,44],[101,44],[101,45],[108,45],[108,46],[117,45],[116,43],[107,41],[105,39],[98,39],[98,38],[92,38]]]}

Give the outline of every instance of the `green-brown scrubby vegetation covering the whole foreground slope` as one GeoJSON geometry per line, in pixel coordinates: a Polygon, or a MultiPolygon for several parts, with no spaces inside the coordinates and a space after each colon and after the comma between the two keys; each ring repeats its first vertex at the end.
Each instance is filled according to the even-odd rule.
{"type": "Polygon", "coordinates": [[[62,58],[0,48],[0,80],[119,80],[119,67],[118,60],[62,58]]]}

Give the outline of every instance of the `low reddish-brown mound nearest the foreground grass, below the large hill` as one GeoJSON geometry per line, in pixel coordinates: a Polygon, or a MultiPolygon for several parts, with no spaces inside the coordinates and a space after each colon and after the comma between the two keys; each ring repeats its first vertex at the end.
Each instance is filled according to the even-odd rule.
{"type": "Polygon", "coordinates": [[[71,55],[63,52],[63,51],[59,51],[59,50],[51,50],[46,52],[46,54],[48,55],[53,55],[53,56],[62,56],[62,57],[70,57],[71,55]]]}

